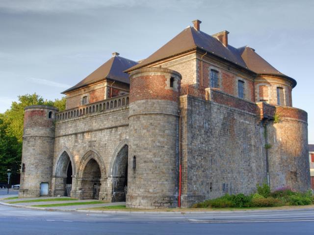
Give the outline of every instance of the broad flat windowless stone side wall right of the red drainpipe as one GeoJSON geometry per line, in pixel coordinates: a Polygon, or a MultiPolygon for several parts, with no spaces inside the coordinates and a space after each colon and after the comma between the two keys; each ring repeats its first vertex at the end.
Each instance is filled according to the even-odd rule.
{"type": "Polygon", "coordinates": [[[183,207],[224,193],[252,193],[266,179],[263,128],[255,113],[181,96],[183,207]]]}

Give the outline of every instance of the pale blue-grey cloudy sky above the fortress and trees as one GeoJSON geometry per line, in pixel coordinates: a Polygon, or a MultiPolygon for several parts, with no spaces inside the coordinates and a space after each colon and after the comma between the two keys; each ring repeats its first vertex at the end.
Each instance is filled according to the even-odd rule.
{"type": "Polygon", "coordinates": [[[198,19],[297,81],[314,144],[313,12],[312,0],[0,0],[0,113],[18,95],[62,97],[114,51],[144,59],[198,19]]]}

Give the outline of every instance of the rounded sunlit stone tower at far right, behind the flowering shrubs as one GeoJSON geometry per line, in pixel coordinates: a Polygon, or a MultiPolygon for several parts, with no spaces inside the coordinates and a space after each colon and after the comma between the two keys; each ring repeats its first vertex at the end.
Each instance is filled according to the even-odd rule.
{"type": "Polygon", "coordinates": [[[270,187],[306,191],[311,187],[306,112],[276,106],[276,113],[279,120],[267,124],[270,187]]]}

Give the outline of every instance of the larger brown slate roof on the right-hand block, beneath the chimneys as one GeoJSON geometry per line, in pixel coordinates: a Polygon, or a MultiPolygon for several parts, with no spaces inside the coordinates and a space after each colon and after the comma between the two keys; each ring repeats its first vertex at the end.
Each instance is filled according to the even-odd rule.
{"type": "Polygon", "coordinates": [[[194,27],[188,26],[176,37],[160,47],[155,53],[150,55],[141,63],[131,67],[126,72],[136,70],[138,68],[147,66],[165,58],[178,55],[196,48],[203,49],[210,54],[216,55],[224,60],[234,63],[244,69],[260,74],[276,74],[288,78],[296,85],[293,78],[276,70],[260,55],[258,55],[253,48],[240,47],[235,48],[230,45],[225,47],[218,39],[202,32],[197,31],[194,27]]]}

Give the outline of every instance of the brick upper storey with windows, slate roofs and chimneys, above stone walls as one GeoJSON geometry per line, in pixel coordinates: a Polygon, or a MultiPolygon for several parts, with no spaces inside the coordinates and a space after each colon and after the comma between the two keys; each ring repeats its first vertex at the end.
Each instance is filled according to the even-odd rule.
{"type": "MultiPolygon", "coordinates": [[[[63,92],[67,95],[66,108],[128,94],[130,79],[127,73],[154,67],[179,72],[182,87],[191,85],[201,90],[211,87],[244,101],[292,106],[291,91],[296,86],[293,78],[275,69],[253,48],[229,45],[228,31],[210,36],[200,30],[200,21],[193,23],[194,26],[185,28],[140,63],[114,52],[104,65],[63,92]]],[[[143,82],[143,86],[145,84],[143,82]]]]}

